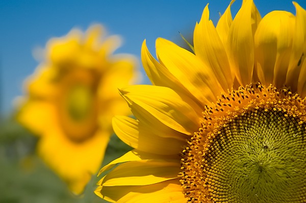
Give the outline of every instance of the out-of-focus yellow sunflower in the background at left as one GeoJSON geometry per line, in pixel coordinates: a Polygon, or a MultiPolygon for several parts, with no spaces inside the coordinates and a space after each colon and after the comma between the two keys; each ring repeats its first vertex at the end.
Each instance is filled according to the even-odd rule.
{"type": "Polygon", "coordinates": [[[130,112],[117,88],[131,84],[137,61],[113,55],[119,40],[104,37],[99,25],[53,38],[46,59],[25,83],[17,119],[40,136],[39,155],[74,193],[99,169],[112,117],[130,112]]]}

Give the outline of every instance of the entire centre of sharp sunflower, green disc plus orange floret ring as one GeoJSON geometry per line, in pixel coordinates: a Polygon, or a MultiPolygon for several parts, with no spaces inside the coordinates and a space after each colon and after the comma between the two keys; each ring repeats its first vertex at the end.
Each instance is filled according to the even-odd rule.
{"type": "Polygon", "coordinates": [[[222,97],[183,151],[189,201],[306,202],[305,101],[261,85],[222,97]]]}

